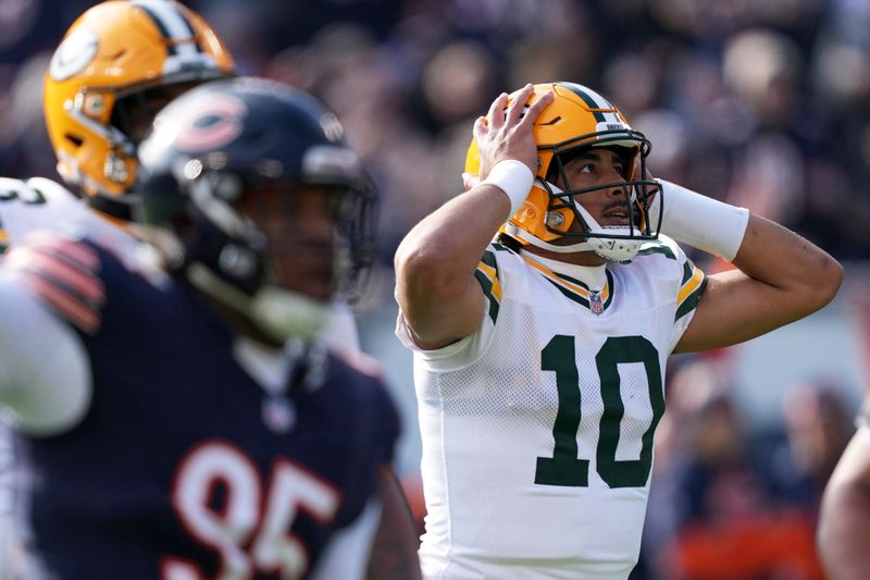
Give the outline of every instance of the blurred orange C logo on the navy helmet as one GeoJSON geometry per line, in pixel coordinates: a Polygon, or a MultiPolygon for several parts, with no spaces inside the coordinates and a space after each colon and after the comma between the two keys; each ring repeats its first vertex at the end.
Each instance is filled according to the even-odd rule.
{"type": "Polygon", "coordinates": [[[175,144],[179,149],[190,152],[223,147],[241,134],[247,113],[245,102],[229,95],[194,99],[189,107],[172,115],[178,120],[175,144]]]}

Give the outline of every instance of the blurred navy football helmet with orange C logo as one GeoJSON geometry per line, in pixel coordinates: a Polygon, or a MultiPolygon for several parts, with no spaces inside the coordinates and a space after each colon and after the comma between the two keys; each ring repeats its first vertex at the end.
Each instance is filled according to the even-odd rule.
{"type": "Polygon", "coordinates": [[[293,285],[281,280],[263,221],[281,232],[284,222],[275,230],[274,219],[283,218],[273,217],[289,218],[302,192],[327,196],[333,287],[350,299],[374,255],[375,190],[343,133],[313,97],[275,82],[239,77],[197,87],[160,112],[139,148],[137,221],[159,226],[151,232],[162,233],[158,245],[172,270],[254,321],[279,326],[273,335],[285,338],[286,324],[274,319],[303,317],[311,298],[324,297],[309,295],[283,313],[274,300],[260,300],[293,285]]]}

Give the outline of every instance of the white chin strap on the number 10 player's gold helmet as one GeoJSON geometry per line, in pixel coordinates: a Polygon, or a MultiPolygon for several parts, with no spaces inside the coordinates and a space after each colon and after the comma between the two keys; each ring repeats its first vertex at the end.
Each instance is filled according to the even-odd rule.
{"type": "MultiPolygon", "coordinates": [[[[555,194],[559,195],[562,194],[562,189],[557,187],[556,185],[545,182],[539,177],[537,181],[543,185],[544,189],[547,190],[548,188],[555,194]]],[[[629,237],[623,238],[610,238],[610,237],[598,237],[600,235],[621,235],[621,236],[630,236],[632,235],[632,229],[626,226],[600,226],[598,222],[592,217],[592,214],[586,211],[580,202],[575,199],[572,199],[574,207],[583,217],[583,220],[586,222],[588,226],[587,234],[589,237],[580,242],[577,244],[569,244],[567,246],[556,246],[554,244],[549,244],[544,242],[543,239],[525,232],[524,230],[520,230],[515,225],[508,223],[505,231],[508,235],[513,237],[520,238],[521,240],[531,244],[535,247],[547,249],[550,251],[555,251],[557,254],[573,254],[575,251],[594,251],[601,258],[614,262],[624,262],[631,260],[635,256],[637,256],[637,251],[641,249],[641,246],[646,242],[645,239],[632,239],[629,237]]]]}

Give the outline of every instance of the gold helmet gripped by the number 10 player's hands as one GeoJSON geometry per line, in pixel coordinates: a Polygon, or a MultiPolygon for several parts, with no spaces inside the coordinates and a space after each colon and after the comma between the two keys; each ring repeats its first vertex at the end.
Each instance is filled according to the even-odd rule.
{"type": "MultiPolygon", "coordinates": [[[[533,127],[538,151],[534,185],[523,207],[510,217],[501,233],[522,245],[532,244],[557,252],[593,250],[609,260],[630,260],[641,244],[658,237],[659,224],[650,224],[647,219],[658,188],[646,171],[649,140],[632,129],[619,109],[607,99],[575,83],[535,85],[529,104],[549,91],[555,94],[555,99],[542,111],[533,127]],[[566,163],[588,147],[624,149],[629,168],[625,181],[561,190],[555,185],[556,177],[560,176],[561,183],[567,184],[566,163]],[[625,227],[598,225],[582,205],[584,194],[613,187],[625,192],[626,206],[633,208],[625,227]],[[576,243],[551,244],[560,238],[574,238],[576,243]]],[[[514,96],[515,92],[508,103],[514,96]]],[[[480,164],[477,144],[472,139],[465,157],[465,172],[476,175],[480,164]]]]}

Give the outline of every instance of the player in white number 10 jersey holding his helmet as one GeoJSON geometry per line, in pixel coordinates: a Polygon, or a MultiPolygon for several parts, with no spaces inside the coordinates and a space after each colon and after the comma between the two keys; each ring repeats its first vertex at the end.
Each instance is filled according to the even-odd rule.
{"type": "Polygon", "coordinates": [[[649,149],[587,87],[502,94],[474,124],[469,190],[399,246],[426,578],[626,578],[668,357],[758,336],[836,294],[828,254],[652,180],[649,149]],[[705,276],[678,242],[736,270],[705,276]]]}

